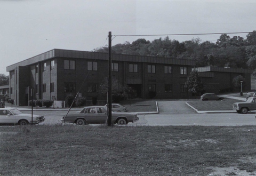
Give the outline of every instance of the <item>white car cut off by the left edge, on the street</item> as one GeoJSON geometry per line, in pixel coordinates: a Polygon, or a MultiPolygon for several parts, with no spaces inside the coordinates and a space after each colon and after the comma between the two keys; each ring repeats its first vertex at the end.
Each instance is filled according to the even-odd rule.
{"type": "Polygon", "coordinates": [[[28,125],[44,122],[44,116],[33,114],[33,123],[31,114],[24,114],[17,108],[1,108],[0,124],[1,125],[28,125]]]}

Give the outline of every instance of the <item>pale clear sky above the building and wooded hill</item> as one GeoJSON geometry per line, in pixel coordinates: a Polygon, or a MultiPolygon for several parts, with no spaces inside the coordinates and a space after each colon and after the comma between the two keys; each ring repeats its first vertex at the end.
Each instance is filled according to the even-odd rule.
{"type": "Polygon", "coordinates": [[[255,7],[255,0],[0,0],[0,74],[9,75],[7,66],[52,49],[106,46],[109,31],[112,45],[166,36],[215,43],[220,34],[173,34],[252,32],[255,7]]]}

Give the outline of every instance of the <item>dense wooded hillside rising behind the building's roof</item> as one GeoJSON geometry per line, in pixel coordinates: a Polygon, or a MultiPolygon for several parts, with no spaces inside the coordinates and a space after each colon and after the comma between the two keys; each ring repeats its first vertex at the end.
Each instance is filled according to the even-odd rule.
{"type": "MultiPolygon", "coordinates": [[[[94,52],[108,52],[108,46],[98,47],[94,52]]],[[[112,46],[112,53],[144,55],[175,59],[195,60],[196,67],[218,66],[232,68],[256,68],[256,30],[246,35],[230,37],[220,35],[216,43],[202,42],[199,38],[179,42],[165,38],[147,41],[144,38],[130,43],[112,46]]]]}

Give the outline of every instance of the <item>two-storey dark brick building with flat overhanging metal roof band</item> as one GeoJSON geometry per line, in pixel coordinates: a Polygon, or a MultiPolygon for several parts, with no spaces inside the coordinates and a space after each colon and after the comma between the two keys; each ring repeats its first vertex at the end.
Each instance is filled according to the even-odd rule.
{"type": "MultiPolygon", "coordinates": [[[[112,77],[137,91],[137,97],[187,98],[185,82],[193,60],[112,54],[112,77]]],[[[107,100],[100,85],[108,77],[108,53],[53,49],[6,68],[10,73],[10,97],[26,106],[31,89],[38,99],[64,101],[79,92],[86,100],[107,100]]]]}

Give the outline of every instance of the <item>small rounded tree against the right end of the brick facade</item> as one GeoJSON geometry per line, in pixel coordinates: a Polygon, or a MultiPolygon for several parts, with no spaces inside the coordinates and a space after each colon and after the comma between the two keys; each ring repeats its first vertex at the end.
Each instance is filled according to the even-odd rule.
{"type": "Polygon", "coordinates": [[[203,89],[203,84],[201,82],[201,78],[199,77],[198,71],[193,69],[187,79],[185,85],[188,88],[188,92],[196,95],[197,93],[201,92],[203,89]]]}

